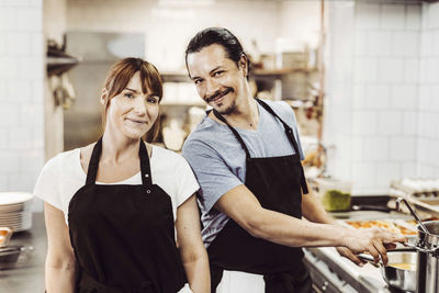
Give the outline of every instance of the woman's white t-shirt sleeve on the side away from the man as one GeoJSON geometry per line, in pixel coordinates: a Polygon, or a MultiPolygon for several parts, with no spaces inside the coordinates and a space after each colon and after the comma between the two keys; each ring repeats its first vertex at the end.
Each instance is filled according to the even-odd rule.
{"type": "Polygon", "coordinates": [[[59,190],[59,157],[48,160],[35,183],[34,196],[63,211],[59,190]]]}

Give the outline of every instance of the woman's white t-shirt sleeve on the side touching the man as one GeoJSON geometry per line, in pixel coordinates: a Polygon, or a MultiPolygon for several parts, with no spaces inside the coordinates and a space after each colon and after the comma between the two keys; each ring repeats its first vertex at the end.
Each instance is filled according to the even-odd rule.
{"type": "Polygon", "coordinates": [[[184,203],[192,194],[194,194],[199,189],[200,185],[196,182],[195,176],[192,172],[191,167],[189,166],[188,161],[178,156],[178,164],[176,166],[176,177],[177,180],[177,194],[176,194],[176,202],[177,206],[180,206],[184,203]]]}

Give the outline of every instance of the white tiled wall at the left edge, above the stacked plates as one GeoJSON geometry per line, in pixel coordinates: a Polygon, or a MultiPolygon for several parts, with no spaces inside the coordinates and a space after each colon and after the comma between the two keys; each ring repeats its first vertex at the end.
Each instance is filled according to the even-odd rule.
{"type": "Polygon", "coordinates": [[[42,0],[0,1],[0,191],[32,192],[44,164],[42,0]]]}

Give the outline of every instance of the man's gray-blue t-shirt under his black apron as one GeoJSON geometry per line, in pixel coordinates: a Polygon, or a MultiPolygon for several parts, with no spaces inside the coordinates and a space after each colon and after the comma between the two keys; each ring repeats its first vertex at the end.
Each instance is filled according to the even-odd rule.
{"type": "MultiPolygon", "coordinates": [[[[295,116],[291,106],[285,102],[267,100],[264,102],[293,128],[300,156],[303,159],[295,116]]],[[[258,109],[257,131],[236,128],[250,156],[258,158],[295,154],[282,123],[259,103],[258,109]]],[[[203,223],[202,237],[207,247],[229,219],[227,215],[212,207],[223,194],[246,181],[246,154],[226,125],[205,116],[184,142],[182,155],[192,167],[201,187],[199,205],[203,223]]]]}

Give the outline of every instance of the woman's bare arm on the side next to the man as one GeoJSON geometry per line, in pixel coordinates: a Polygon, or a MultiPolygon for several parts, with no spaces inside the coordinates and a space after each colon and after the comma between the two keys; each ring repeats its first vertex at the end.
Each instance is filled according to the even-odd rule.
{"type": "Polygon", "coordinates": [[[189,285],[194,293],[211,292],[207,252],[200,234],[195,195],[177,209],[177,241],[189,285]]]}

